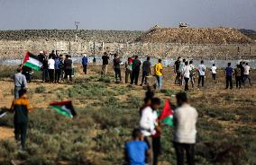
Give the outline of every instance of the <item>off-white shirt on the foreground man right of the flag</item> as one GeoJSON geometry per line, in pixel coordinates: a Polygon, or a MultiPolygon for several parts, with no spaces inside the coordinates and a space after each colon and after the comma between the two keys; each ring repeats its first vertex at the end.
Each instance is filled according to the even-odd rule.
{"type": "Polygon", "coordinates": [[[173,141],[177,143],[196,143],[197,109],[184,104],[174,111],[173,141]]]}

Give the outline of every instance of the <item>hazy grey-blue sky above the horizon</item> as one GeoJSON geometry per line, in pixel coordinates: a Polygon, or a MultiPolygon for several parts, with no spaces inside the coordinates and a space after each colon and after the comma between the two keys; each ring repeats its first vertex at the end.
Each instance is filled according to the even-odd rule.
{"type": "Polygon", "coordinates": [[[149,30],[231,27],[256,30],[256,0],[0,0],[0,30],[149,30]]]}

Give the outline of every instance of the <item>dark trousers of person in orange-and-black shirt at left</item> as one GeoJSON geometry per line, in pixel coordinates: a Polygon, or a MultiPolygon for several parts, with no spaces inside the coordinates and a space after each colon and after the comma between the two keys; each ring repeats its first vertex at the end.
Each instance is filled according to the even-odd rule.
{"type": "Polygon", "coordinates": [[[15,140],[19,141],[21,139],[23,150],[25,148],[25,141],[26,141],[26,136],[27,136],[27,126],[28,126],[27,122],[16,123],[14,121],[14,136],[15,136],[15,140]]]}

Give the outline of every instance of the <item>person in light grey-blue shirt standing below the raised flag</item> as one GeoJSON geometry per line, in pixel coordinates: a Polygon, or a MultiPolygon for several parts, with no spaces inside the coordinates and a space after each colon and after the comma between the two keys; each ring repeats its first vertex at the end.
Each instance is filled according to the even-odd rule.
{"type": "Polygon", "coordinates": [[[19,98],[19,91],[28,88],[26,77],[22,72],[22,67],[19,67],[17,73],[14,74],[14,99],[19,98]]]}

